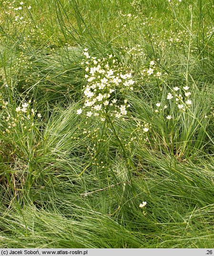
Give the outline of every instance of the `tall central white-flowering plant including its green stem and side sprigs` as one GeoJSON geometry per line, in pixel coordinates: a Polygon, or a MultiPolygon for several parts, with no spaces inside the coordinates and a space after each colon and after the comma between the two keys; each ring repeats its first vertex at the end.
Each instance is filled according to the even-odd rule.
{"type": "MultiPolygon", "coordinates": [[[[131,157],[127,156],[127,151],[130,150],[130,143],[134,137],[131,136],[123,143],[122,139],[119,138],[119,131],[116,131],[114,123],[131,118],[128,113],[131,105],[126,97],[133,91],[135,86],[132,70],[127,72],[112,54],[107,57],[97,58],[90,56],[88,49],[85,48],[83,55],[85,57],[82,60],[85,78],[85,84],[82,88],[84,106],[79,108],[76,114],[87,118],[99,118],[100,121],[104,122],[104,126],[106,125],[112,129],[122,149],[130,173],[130,165],[134,168],[134,164],[131,157]]],[[[138,124],[138,130],[139,125],[142,129],[140,137],[144,138],[143,133],[149,131],[149,125],[146,123],[143,125],[138,124]]],[[[132,132],[132,135],[134,132],[132,132]]],[[[97,155],[94,156],[94,158],[96,157],[97,155]]]]}

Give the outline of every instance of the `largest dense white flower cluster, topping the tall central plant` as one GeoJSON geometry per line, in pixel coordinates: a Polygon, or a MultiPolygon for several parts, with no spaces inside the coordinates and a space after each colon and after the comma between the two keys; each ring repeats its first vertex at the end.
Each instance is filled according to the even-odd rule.
{"type": "Polygon", "coordinates": [[[77,114],[84,113],[87,117],[106,115],[121,118],[127,115],[130,107],[125,99],[126,94],[133,90],[135,81],[132,71],[124,72],[122,65],[110,54],[107,58],[91,57],[85,48],[85,59],[82,65],[85,69],[86,85],[83,86],[84,107],[77,114]],[[122,100],[123,99],[123,100],[122,100]]]}

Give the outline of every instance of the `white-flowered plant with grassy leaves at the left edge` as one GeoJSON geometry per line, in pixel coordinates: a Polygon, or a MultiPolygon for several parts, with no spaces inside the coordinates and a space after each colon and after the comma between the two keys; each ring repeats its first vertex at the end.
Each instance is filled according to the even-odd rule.
{"type": "Polygon", "coordinates": [[[39,126],[42,116],[31,105],[31,100],[23,100],[16,105],[15,101],[6,101],[0,94],[2,145],[7,145],[8,155],[13,154],[14,157],[15,154],[19,159],[32,160],[36,152],[37,139],[41,137],[39,126]],[[33,149],[29,150],[29,144],[33,149]]]}

